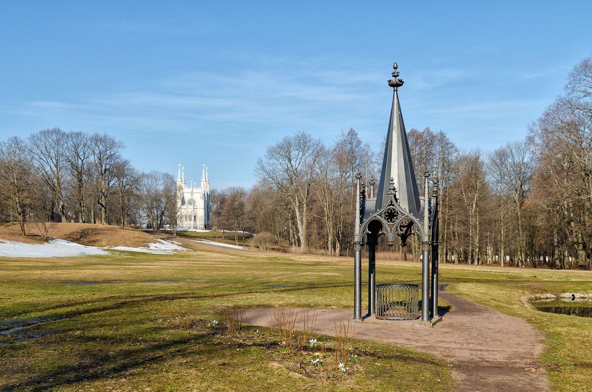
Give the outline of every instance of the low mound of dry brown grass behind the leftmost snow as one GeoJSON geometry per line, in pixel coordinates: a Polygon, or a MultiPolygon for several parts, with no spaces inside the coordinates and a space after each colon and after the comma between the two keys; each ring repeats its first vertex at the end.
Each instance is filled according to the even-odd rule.
{"type": "Polygon", "coordinates": [[[146,246],[155,242],[153,237],[134,229],[121,229],[92,223],[37,223],[25,224],[26,236],[22,236],[18,225],[0,227],[0,239],[25,243],[43,243],[44,236],[60,238],[82,245],[98,246],[146,246]]]}

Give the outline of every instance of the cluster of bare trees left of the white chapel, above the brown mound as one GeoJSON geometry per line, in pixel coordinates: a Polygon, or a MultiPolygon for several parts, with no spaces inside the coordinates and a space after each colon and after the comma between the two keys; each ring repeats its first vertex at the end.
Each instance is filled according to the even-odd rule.
{"type": "Polygon", "coordinates": [[[142,173],[108,134],[51,128],[26,140],[0,142],[0,207],[4,221],[176,224],[176,182],[169,173],[142,173]]]}

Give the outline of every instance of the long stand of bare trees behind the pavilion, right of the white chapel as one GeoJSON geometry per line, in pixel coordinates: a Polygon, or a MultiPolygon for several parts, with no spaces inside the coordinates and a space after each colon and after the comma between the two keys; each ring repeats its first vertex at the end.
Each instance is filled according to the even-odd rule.
{"type": "MultiPolygon", "coordinates": [[[[574,67],[564,94],[524,140],[490,152],[462,151],[442,131],[411,129],[417,182],[427,171],[438,189],[442,261],[590,269],[591,130],[591,58],[574,67]]],[[[378,178],[382,150],[372,152],[353,129],[329,146],[304,132],[286,136],[259,158],[259,182],[250,192],[217,194],[214,221],[232,208],[223,200],[236,194],[244,219],[226,227],[264,233],[266,246],[271,240],[301,252],[348,255],[353,178],[357,171],[366,185],[370,176],[378,178]]],[[[417,241],[393,248],[401,258],[406,250],[419,253],[411,252],[419,250],[417,241]]]]}

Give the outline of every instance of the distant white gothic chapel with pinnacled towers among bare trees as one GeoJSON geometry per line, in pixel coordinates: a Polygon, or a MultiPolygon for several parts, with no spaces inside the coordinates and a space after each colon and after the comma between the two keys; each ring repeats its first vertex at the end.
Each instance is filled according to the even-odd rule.
{"type": "Polygon", "coordinates": [[[177,227],[179,230],[210,229],[210,178],[208,168],[201,174],[201,187],[185,183],[185,168],[179,165],[177,176],[177,227]]]}

